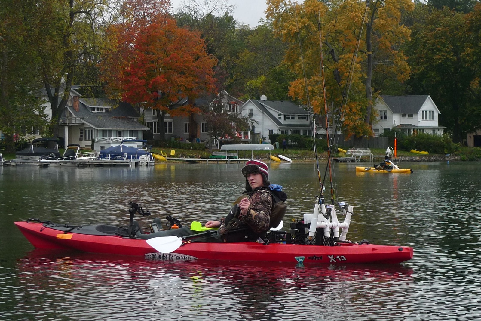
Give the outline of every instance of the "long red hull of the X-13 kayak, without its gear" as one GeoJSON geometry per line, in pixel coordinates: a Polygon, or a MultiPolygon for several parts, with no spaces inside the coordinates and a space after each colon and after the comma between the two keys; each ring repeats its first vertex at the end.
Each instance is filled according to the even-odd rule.
{"type": "MultiPolygon", "coordinates": [[[[37,222],[15,222],[36,248],[77,250],[91,253],[156,257],[161,259],[208,259],[299,263],[382,263],[396,264],[413,257],[404,246],[340,243],[340,246],[302,244],[184,243],[173,253],[161,254],[146,240],[117,235],[91,235],[59,231],[37,222]],[[175,254],[175,255],[174,255],[175,254]]],[[[75,229],[73,229],[75,230],[75,229]]]]}

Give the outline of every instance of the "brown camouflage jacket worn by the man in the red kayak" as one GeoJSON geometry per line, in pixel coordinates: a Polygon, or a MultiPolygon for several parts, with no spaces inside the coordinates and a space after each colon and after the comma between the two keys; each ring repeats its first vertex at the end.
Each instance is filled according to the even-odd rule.
{"type": "Polygon", "coordinates": [[[256,241],[259,236],[269,230],[270,212],[273,205],[272,195],[263,186],[258,190],[248,193],[251,205],[245,216],[238,209],[234,218],[227,224],[221,220],[219,234],[224,242],[256,241]],[[236,230],[242,231],[235,232],[236,230]]]}

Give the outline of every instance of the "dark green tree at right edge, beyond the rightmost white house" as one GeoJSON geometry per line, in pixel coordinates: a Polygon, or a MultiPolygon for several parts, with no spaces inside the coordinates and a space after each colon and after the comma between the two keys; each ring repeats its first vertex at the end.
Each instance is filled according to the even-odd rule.
{"type": "Polygon", "coordinates": [[[413,93],[430,94],[454,141],[481,123],[479,12],[469,17],[446,7],[433,10],[425,24],[413,26],[409,44],[413,93]]]}

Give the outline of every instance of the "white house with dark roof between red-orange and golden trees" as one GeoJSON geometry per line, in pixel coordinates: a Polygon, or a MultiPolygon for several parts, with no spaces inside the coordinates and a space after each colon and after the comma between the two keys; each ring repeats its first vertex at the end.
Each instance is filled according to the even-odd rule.
{"type": "Polygon", "coordinates": [[[259,133],[264,141],[269,141],[269,134],[311,135],[310,113],[289,101],[267,100],[262,95],[260,100],[248,100],[242,105],[242,116],[252,117],[256,124],[251,131],[259,133]]]}

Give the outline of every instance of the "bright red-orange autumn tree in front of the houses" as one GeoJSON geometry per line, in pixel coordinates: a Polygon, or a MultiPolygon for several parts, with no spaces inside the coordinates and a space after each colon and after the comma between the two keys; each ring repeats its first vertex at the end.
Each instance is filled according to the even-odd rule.
{"type": "Polygon", "coordinates": [[[193,105],[195,98],[210,93],[215,83],[215,58],[207,54],[198,32],[177,27],[167,14],[169,6],[169,1],[129,0],[123,10],[125,22],[108,32],[102,63],[112,96],[158,110],[161,140],[165,114],[192,120],[201,112],[193,105]],[[162,3],[162,10],[155,3],[162,3]],[[189,104],[169,109],[186,97],[189,104]]]}

